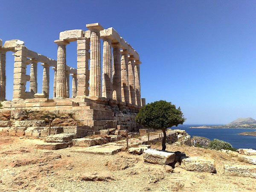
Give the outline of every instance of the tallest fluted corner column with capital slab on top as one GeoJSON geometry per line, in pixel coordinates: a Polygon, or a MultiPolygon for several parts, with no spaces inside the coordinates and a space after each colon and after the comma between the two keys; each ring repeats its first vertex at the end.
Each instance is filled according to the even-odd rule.
{"type": "Polygon", "coordinates": [[[99,23],[87,24],[90,29],[90,96],[102,96],[101,87],[101,55],[100,55],[100,30],[99,23]]]}

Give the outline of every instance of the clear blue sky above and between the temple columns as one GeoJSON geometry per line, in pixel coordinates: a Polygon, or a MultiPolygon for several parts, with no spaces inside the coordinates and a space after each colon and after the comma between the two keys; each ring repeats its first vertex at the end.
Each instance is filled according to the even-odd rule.
{"type": "MultiPolygon", "coordinates": [[[[180,106],[186,124],[256,118],[256,1],[0,0],[0,21],[3,41],[20,39],[53,59],[59,32],[96,22],[113,27],[140,54],[146,102],[180,106]]],[[[13,58],[8,52],[9,100],[13,58]]],[[[67,46],[67,64],[76,67],[75,42],[67,46]]],[[[39,64],[39,93],[42,69],[39,64]]],[[[53,70],[50,84],[52,96],[53,70]]]]}

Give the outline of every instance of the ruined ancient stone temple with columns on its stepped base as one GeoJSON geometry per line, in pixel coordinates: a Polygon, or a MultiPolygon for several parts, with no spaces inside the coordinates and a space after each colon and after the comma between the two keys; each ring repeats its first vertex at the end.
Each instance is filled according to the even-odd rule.
{"type": "Polygon", "coordinates": [[[99,23],[86,27],[88,30],[60,32],[59,39],[54,41],[57,60],[28,49],[23,41],[3,43],[0,40],[1,110],[68,112],[73,113],[86,129],[138,131],[141,126],[134,118],[145,105],[140,92],[140,56],[112,27],[104,29],[99,23]],[[69,67],[66,62],[66,47],[73,41],[77,42],[76,68],[69,67]],[[8,51],[14,52],[11,101],[6,101],[8,51]],[[38,93],[38,64],[44,67],[42,93],[38,93]],[[27,65],[30,65],[30,72],[26,70],[27,65]],[[50,70],[54,70],[52,82],[49,81],[50,70]],[[29,91],[26,91],[27,81],[29,91]],[[49,98],[50,84],[53,85],[53,98],[49,98]]]}

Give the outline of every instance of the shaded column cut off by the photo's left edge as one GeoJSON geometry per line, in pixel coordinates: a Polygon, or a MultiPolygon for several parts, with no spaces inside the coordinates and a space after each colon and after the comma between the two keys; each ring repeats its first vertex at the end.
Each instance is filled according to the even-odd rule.
{"type": "Polygon", "coordinates": [[[6,99],[6,51],[0,47],[0,101],[6,99]]]}

